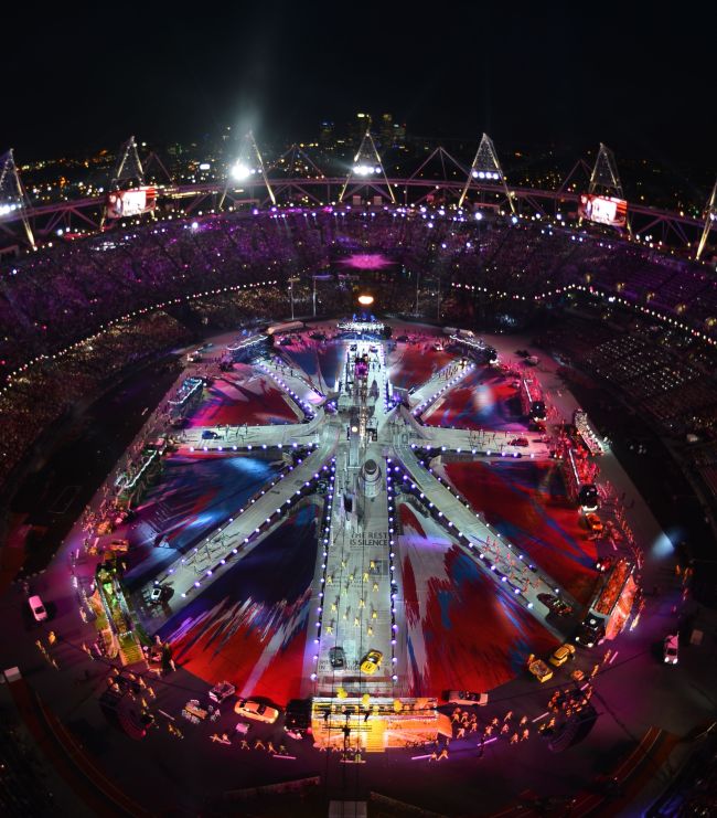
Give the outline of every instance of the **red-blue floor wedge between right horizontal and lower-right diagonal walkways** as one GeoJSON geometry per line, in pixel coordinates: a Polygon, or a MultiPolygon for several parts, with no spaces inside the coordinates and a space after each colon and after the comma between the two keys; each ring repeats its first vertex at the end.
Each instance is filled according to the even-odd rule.
{"type": "Polygon", "coordinates": [[[597,550],[567,498],[556,463],[450,463],[437,471],[578,602],[589,602],[598,576],[597,550]]]}

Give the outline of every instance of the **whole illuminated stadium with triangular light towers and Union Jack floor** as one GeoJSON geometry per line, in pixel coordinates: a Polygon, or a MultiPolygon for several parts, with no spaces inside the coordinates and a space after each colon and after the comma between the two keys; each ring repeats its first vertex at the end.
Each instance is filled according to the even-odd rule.
{"type": "Polygon", "coordinates": [[[55,804],[708,803],[715,190],[477,141],[174,184],[131,138],[43,205],[2,158],[3,694],[55,804]]]}

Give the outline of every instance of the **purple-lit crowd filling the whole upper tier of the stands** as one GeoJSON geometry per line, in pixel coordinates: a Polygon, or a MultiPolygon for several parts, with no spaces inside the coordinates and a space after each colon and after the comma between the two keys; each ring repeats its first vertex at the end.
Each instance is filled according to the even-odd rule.
{"type": "Polygon", "coordinates": [[[531,300],[591,284],[702,325],[717,317],[717,289],[702,269],[539,221],[405,209],[223,213],[116,227],[6,264],[0,376],[121,316],[224,287],[308,280],[358,248],[385,252],[445,291],[460,284],[531,300]]]}

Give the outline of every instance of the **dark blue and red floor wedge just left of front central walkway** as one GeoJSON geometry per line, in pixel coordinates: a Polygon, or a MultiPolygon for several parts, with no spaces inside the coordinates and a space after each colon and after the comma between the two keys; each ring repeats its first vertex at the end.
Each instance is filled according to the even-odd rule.
{"type": "Polygon", "coordinates": [[[178,665],[237,694],[298,697],[321,509],[299,507],[161,629],[178,665]]]}

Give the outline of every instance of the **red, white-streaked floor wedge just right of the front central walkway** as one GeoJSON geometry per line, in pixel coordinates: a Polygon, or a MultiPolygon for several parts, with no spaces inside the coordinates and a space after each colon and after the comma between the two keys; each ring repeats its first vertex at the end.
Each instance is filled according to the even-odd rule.
{"type": "Polygon", "coordinates": [[[547,654],[555,638],[429,517],[402,502],[407,695],[488,691],[547,654]]]}

